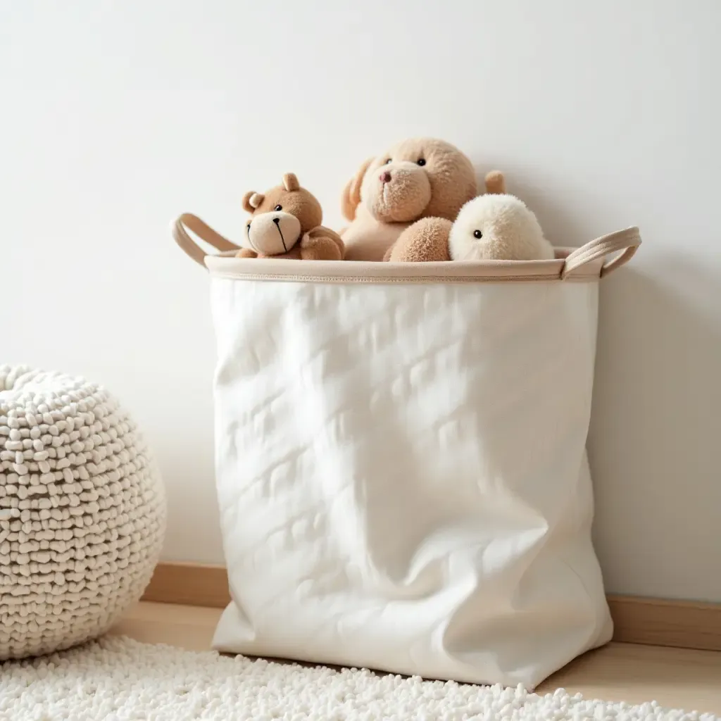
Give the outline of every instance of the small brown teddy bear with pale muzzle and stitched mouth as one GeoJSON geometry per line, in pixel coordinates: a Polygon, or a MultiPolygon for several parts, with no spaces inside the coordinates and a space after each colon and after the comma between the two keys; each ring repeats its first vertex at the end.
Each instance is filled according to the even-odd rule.
{"type": "Polygon", "coordinates": [[[345,247],[340,236],[321,225],[320,203],[300,186],[293,173],[283,175],[283,183],[266,193],[246,193],[243,208],[252,216],[245,225],[249,247],[242,248],[236,257],[343,259],[345,247]]]}

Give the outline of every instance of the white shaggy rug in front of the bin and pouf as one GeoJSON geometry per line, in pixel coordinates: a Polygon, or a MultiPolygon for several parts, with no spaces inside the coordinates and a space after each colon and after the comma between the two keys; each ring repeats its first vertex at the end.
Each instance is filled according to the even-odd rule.
{"type": "Polygon", "coordinates": [[[671,711],[333,671],[122,637],[0,665],[1,721],[720,721],[671,711]]]}

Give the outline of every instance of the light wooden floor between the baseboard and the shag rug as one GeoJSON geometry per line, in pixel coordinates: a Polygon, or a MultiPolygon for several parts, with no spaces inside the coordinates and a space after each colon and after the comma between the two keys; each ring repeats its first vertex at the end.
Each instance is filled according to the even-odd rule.
{"type": "MultiPolygon", "coordinates": [[[[147,643],[208,650],[218,609],[138,603],[113,633],[147,643]]],[[[538,693],[566,689],[588,699],[662,706],[721,716],[721,653],[612,643],[575,660],[538,693]]]]}

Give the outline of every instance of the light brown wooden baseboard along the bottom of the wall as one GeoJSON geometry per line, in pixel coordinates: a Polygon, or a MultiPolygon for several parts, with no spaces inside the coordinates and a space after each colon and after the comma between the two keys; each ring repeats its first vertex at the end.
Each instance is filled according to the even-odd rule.
{"type": "MultiPolygon", "coordinates": [[[[228,605],[228,574],[223,566],[159,564],[143,601],[187,606],[228,605]]],[[[614,641],[721,651],[721,603],[663,601],[609,596],[614,641]]]]}

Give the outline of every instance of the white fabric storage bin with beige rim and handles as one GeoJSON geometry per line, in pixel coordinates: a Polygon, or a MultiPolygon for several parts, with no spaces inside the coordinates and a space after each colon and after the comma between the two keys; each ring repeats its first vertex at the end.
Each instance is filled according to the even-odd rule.
{"type": "Polygon", "coordinates": [[[184,226],[229,247],[177,222],[218,339],[217,650],[532,689],[610,640],[585,441],[598,279],[637,229],[394,265],[203,259],[184,226]]]}

